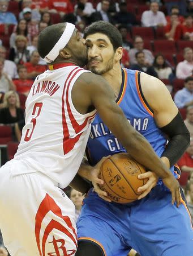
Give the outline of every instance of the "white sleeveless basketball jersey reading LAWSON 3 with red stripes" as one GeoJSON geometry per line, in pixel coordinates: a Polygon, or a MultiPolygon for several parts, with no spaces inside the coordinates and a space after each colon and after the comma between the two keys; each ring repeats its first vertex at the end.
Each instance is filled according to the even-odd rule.
{"type": "Polygon", "coordinates": [[[39,171],[65,188],[82,162],[96,110],[80,114],[71,98],[74,82],[89,71],[72,64],[54,67],[59,68],[37,76],[27,98],[25,126],[14,157],[23,168],[16,168],[15,175],[39,171]]]}

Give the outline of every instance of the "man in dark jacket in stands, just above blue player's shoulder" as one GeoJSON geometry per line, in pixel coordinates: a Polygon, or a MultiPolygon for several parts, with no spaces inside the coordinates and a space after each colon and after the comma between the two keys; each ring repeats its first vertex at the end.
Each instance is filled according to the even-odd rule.
{"type": "Polygon", "coordinates": [[[151,65],[145,63],[145,54],[143,51],[139,51],[135,53],[135,59],[137,61],[136,64],[131,65],[130,69],[139,70],[147,73],[148,75],[157,77],[157,73],[153,69],[151,65]]]}

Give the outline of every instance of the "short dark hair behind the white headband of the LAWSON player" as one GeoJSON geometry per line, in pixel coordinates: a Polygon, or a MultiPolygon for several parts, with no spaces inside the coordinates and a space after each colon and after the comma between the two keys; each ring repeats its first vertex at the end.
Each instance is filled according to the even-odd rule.
{"type": "Polygon", "coordinates": [[[38,36],[37,51],[43,59],[52,50],[55,43],[58,42],[65,27],[66,23],[58,23],[48,26],[41,31],[38,36]]]}

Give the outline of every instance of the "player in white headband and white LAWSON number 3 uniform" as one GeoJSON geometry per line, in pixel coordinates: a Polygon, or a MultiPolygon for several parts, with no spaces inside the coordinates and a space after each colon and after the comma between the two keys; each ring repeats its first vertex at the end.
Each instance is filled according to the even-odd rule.
{"type": "Polygon", "coordinates": [[[29,92],[18,152],[0,169],[0,227],[11,256],[75,255],[75,207],[58,187],[78,171],[96,110],[134,159],[156,168],[179,204],[178,182],[128,123],[110,86],[81,68],[87,47],[75,26],[45,28],[38,52],[49,68],[29,92]]]}

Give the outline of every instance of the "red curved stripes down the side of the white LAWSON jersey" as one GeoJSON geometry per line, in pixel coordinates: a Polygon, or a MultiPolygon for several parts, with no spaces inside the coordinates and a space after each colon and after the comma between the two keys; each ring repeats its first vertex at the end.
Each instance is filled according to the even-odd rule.
{"type": "MultiPolygon", "coordinates": [[[[77,68],[75,68],[77,69],[77,68]]],[[[76,74],[79,72],[79,71],[82,71],[83,69],[80,68],[78,70],[75,71],[75,69],[73,69],[70,74],[68,75],[67,79],[66,79],[66,82],[65,82],[65,86],[64,86],[64,90],[63,90],[63,94],[65,93],[65,88],[66,88],[66,105],[67,105],[67,112],[68,112],[68,116],[70,118],[70,121],[71,121],[71,124],[72,124],[72,127],[74,128],[75,130],[75,133],[78,134],[80,133],[80,131],[87,125],[87,122],[88,122],[88,119],[92,119],[95,114],[93,114],[92,116],[89,116],[85,119],[85,121],[82,123],[82,125],[79,125],[78,122],[76,122],[75,118],[74,118],[74,115],[72,114],[71,112],[71,108],[70,108],[70,104],[69,104],[69,101],[68,101],[68,91],[69,91],[69,88],[70,88],[70,84],[71,84],[71,81],[72,79],[74,79],[74,77],[76,76],[76,74]],[[74,72],[75,71],[75,72],[74,72]],[[72,72],[74,72],[74,74],[72,75],[72,72]],[[72,75],[72,76],[71,76],[72,75]],[[71,76],[71,78],[70,78],[71,76]],[[70,79],[70,80],[69,80],[70,79]],[[69,81],[68,81],[69,80],[69,81]]],[[[64,133],[64,138],[63,138],[63,151],[64,151],[64,154],[67,154],[68,152],[70,152],[72,150],[72,148],[74,148],[76,142],[79,141],[79,138],[80,136],[83,134],[80,133],[78,135],[76,135],[75,138],[69,138],[70,137],[70,134],[69,134],[69,131],[68,131],[68,127],[67,127],[67,123],[66,123],[66,117],[65,117],[65,109],[64,109],[64,105],[65,105],[65,101],[64,101],[64,98],[62,96],[62,112],[63,112],[63,133],[64,133]]]]}

